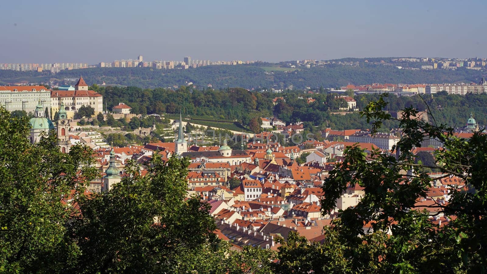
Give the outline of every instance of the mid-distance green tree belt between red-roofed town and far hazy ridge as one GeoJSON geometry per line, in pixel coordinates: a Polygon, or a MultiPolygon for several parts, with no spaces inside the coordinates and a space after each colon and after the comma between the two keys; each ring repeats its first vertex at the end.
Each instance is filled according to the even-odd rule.
{"type": "MultiPolygon", "coordinates": [[[[360,118],[358,112],[341,111],[341,114],[337,114],[345,102],[332,92],[308,94],[303,91],[286,91],[273,94],[247,91],[243,88],[197,90],[187,86],[176,90],[96,85],[91,88],[103,95],[109,109],[119,102],[124,102],[132,107],[131,112],[134,114],[176,114],[181,111],[188,118],[237,121],[244,127],[249,127],[252,118],[275,116],[286,124],[304,122],[309,132],[324,130],[327,127],[344,130],[369,129],[371,126],[360,118]],[[283,100],[277,99],[274,103],[273,99],[277,97],[282,97],[283,100]],[[315,101],[307,103],[306,98],[314,98],[315,101]]],[[[355,95],[354,98],[357,108],[362,110],[379,96],[361,94],[355,95]]],[[[486,94],[460,96],[440,92],[434,96],[423,94],[412,97],[391,94],[384,100],[388,102],[385,110],[391,112],[411,106],[424,111],[429,105],[431,115],[439,123],[463,127],[472,113],[480,125],[487,125],[486,94]]],[[[397,126],[397,122],[386,120],[382,130],[387,131],[397,126]]]]}

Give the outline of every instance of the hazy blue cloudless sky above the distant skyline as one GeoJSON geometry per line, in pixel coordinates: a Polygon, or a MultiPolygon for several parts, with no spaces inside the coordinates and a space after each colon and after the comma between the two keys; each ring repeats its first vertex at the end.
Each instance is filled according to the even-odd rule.
{"type": "Polygon", "coordinates": [[[1,62],[487,57],[486,0],[1,0],[1,62]]]}

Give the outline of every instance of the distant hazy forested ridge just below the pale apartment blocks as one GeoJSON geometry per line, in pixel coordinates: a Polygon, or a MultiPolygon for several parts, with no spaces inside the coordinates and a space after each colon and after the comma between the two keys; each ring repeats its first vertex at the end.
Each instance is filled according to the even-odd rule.
{"type": "MultiPolygon", "coordinates": [[[[34,72],[12,72],[0,70],[0,84],[21,80],[29,82],[47,81],[49,78],[65,83],[65,78],[80,75],[89,84],[119,84],[141,88],[172,87],[192,82],[197,88],[211,84],[213,88],[243,87],[288,88],[339,87],[348,83],[453,83],[478,82],[484,77],[481,71],[460,68],[450,70],[404,70],[392,65],[363,64],[360,67],[330,65],[291,71],[292,69],[274,66],[253,65],[213,65],[187,70],[156,70],[152,68],[90,68],[65,70],[56,75],[34,72]],[[289,70],[289,71],[285,71],[289,70]]],[[[66,82],[71,83],[71,82],[66,82]]],[[[73,84],[73,83],[72,83],[73,84]]]]}

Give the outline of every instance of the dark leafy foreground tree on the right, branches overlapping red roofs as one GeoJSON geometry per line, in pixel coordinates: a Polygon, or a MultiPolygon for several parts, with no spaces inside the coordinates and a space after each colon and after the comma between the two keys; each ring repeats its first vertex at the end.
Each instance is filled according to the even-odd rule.
{"type": "MultiPolygon", "coordinates": [[[[383,111],[385,105],[381,97],[362,112],[375,129],[393,119],[383,111]]],[[[346,150],[345,160],[324,182],[322,211],[326,214],[335,208],[349,183],[364,187],[365,196],[324,228],[322,244],[289,237],[278,252],[278,272],[485,273],[487,136],[457,138],[452,128],[436,125],[434,119],[428,124],[412,118],[416,114],[417,110],[407,108],[398,120],[404,134],[395,147],[400,153],[376,151],[367,157],[358,147],[346,150]],[[438,139],[445,148],[436,152],[437,163],[432,166],[415,162],[410,153],[427,138],[438,139]],[[437,212],[434,215],[450,216],[446,225],[433,224],[426,210],[415,209],[432,181],[423,167],[465,181],[466,187],[451,190],[449,202],[430,206],[437,212]]]]}

